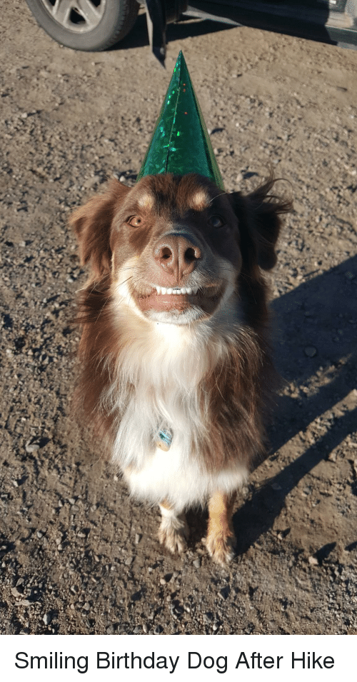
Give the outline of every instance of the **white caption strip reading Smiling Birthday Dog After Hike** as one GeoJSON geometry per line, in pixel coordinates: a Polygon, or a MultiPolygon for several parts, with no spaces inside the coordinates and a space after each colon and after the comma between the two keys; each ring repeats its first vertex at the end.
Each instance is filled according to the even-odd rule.
{"type": "Polygon", "coordinates": [[[341,681],[355,670],[353,636],[3,636],[3,679],[341,681]]]}

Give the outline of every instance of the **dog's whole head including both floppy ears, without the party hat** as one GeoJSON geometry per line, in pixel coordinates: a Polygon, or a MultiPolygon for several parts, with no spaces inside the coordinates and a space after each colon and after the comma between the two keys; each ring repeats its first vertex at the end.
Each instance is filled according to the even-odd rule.
{"type": "Polygon", "coordinates": [[[275,263],[279,211],[270,204],[260,223],[265,198],[226,194],[196,174],[146,176],[133,188],[113,181],[71,222],[92,283],[109,278],[114,296],[141,317],[189,324],[228,301],[244,260],[248,268],[275,263]]]}

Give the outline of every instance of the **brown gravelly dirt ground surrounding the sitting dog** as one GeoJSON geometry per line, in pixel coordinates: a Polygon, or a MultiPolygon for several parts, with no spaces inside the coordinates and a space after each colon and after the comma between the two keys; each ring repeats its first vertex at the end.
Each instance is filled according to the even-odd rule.
{"type": "Polygon", "coordinates": [[[1,633],[356,633],[357,52],[144,16],[104,54],[62,48],[23,1],[0,26],[1,633]],[[292,192],[271,276],[285,380],[271,451],[236,506],[237,557],[188,552],[69,414],[84,271],[66,220],[115,174],[133,184],[182,49],[226,189],[271,164],[292,192]]]}

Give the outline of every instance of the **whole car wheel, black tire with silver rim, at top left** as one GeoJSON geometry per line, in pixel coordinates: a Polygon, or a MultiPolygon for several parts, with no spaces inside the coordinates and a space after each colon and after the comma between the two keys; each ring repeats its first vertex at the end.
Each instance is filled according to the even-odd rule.
{"type": "Polygon", "coordinates": [[[26,0],[44,31],[61,45],[98,52],[109,49],[133,28],[136,0],[26,0]]]}

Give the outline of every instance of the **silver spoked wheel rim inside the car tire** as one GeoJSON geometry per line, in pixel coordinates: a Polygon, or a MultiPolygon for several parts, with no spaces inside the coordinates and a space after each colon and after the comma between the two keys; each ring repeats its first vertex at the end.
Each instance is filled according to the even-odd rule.
{"type": "Polygon", "coordinates": [[[42,0],[57,24],[74,33],[88,33],[100,24],[106,0],[42,0]]]}

